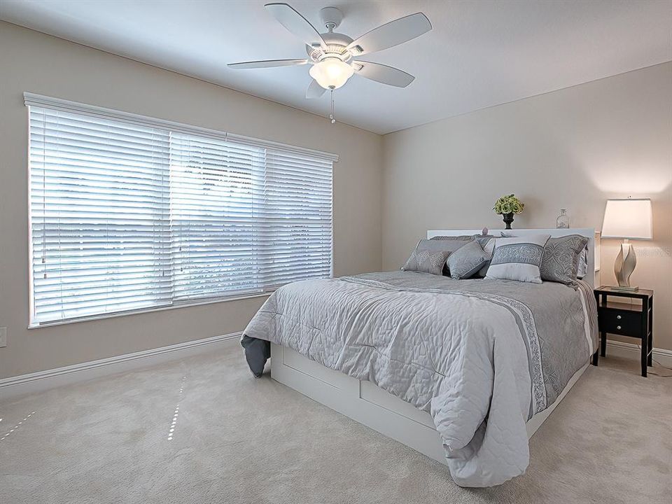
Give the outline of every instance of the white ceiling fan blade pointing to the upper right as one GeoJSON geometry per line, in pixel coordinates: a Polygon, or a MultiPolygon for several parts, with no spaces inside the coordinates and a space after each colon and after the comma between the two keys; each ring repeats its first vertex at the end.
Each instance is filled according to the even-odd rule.
{"type": "Polygon", "coordinates": [[[368,54],[412,40],[430,29],[432,24],[427,16],[415,13],[372,29],[348,45],[348,49],[352,49],[355,56],[368,54]],[[357,46],[361,48],[361,52],[358,52],[357,46]]]}

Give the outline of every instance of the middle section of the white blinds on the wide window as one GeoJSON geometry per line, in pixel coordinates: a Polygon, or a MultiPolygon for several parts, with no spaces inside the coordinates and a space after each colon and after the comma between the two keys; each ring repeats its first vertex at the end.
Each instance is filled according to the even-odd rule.
{"type": "Polygon", "coordinates": [[[263,150],[188,134],[170,146],[174,298],[258,289],[263,150]]]}

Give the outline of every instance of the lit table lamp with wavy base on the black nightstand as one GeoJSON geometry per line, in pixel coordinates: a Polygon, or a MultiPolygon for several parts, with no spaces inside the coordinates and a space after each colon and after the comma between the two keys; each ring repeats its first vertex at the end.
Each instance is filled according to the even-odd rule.
{"type": "Polygon", "coordinates": [[[614,273],[619,290],[635,291],[630,286],[630,275],[637,265],[635,249],[631,239],[653,239],[651,200],[607,200],[602,223],[602,238],[623,239],[621,250],[614,264],[614,273]]]}

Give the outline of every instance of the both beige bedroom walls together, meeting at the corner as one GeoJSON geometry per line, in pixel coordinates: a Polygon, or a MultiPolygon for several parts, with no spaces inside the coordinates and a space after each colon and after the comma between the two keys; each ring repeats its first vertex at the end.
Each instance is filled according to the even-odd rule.
{"type": "MultiPolygon", "coordinates": [[[[672,64],[381,137],[0,22],[0,378],[241,330],[262,298],[27,330],[25,91],[338,153],[334,272],[399,267],[430,228],[599,228],[608,197],[651,197],[633,280],[656,290],[655,346],[672,349],[672,64]],[[381,162],[382,160],[382,162],[381,162]],[[382,230],[381,230],[382,223],[382,230]],[[382,247],[381,247],[382,245],[382,247]]],[[[603,241],[603,283],[617,241],[603,241]]],[[[631,340],[630,340],[631,341],[631,340]]]]}

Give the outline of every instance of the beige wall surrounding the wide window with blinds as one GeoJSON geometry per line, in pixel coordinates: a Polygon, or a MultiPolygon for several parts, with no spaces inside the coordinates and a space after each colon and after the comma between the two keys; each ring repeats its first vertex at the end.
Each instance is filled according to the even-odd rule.
{"type": "Polygon", "coordinates": [[[334,272],[380,269],[381,137],[0,22],[0,378],[242,330],[262,298],[27,330],[25,91],[340,155],[334,272]]]}

